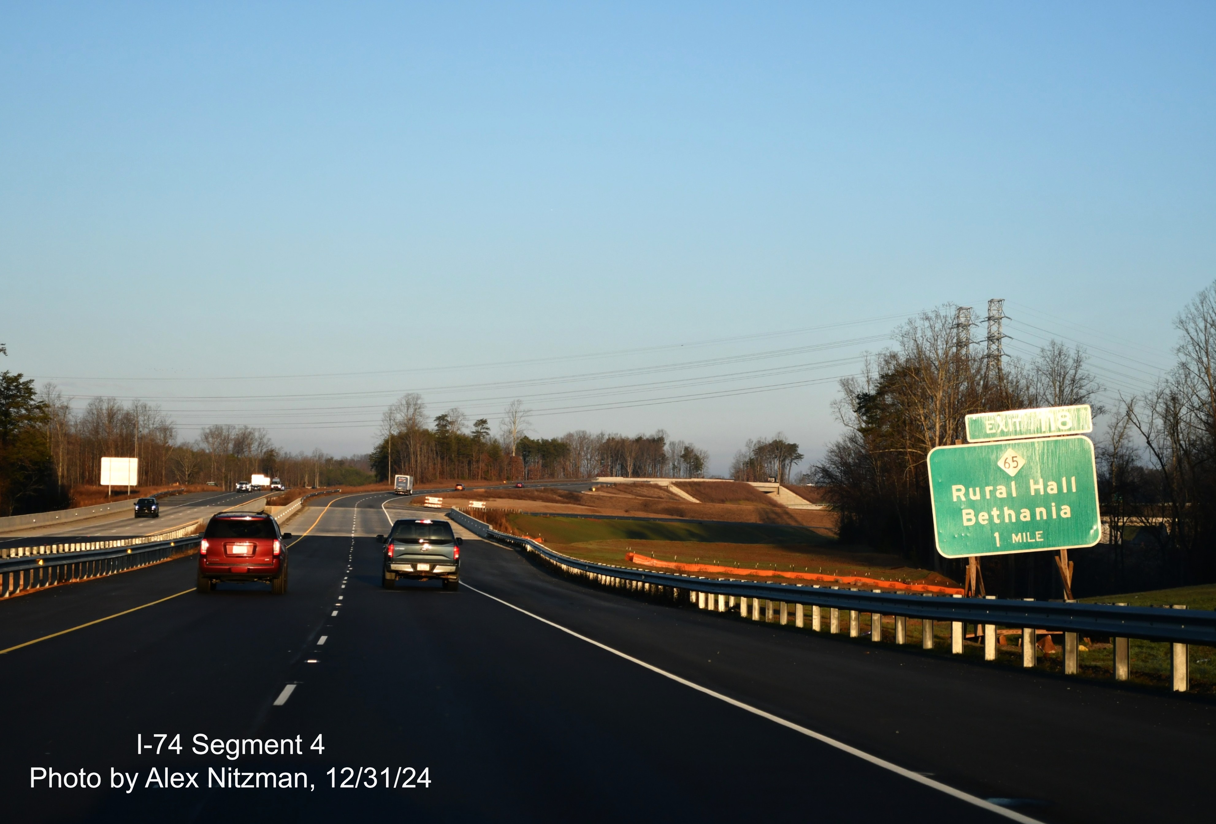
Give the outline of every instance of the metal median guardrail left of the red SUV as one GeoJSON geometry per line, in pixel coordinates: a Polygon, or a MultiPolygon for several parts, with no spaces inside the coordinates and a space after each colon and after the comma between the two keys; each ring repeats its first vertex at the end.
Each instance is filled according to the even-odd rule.
{"type": "Polygon", "coordinates": [[[198,547],[201,541],[201,535],[193,535],[136,546],[7,558],[0,560],[0,598],[9,598],[27,589],[41,589],[69,581],[113,575],[147,566],[190,553],[198,547]]]}

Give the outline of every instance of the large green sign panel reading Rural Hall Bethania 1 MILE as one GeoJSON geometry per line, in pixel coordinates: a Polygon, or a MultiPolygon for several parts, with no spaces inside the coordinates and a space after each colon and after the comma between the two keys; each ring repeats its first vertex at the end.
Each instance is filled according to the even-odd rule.
{"type": "Polygon", "coordinates": [[[1083,435],[939,446],[929,452],[929,496],[946,558],[1102,538],[1093,442],[1083,435]]]}

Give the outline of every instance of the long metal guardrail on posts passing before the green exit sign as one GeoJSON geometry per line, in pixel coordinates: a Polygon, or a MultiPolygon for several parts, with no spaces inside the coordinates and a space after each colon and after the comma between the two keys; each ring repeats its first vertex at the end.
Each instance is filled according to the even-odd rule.
{"type": "MultiPolygon", "coordinates": [[[[985,657],[996,657],[997,626],[1020,627],[1023,637],[1029,643],[1030,654],[1024,654],[1024,666],[1034,666],[1035,631],[1048,630],[1065,633],[1065,672],[1076,673],[1077,633],[1091,636],[1109,636],[1115,639],[1115,677],[1126,681],[1130,667],[1127,639],[1165,642],[1173,644],[1173,688],[1186,690],[1188,684],[1187,645],[1200,644],[1216,647],[1216,610],[1182,610],[1160,606],[1121,606],[1118,604],[1079,604],[1043,600],[1009,600],[995,598],[944,597],[931,593],[889,593],[862,592],[831,586],[803,586],[794,583],[767,583],[759,581],[732,581],[703,579],[672,572],[652,572],[648,570],[572,558],[553,552],[548,547],[516,535],[507,535],[490,529],[488,524],[477,520],[457,509],[449,517],[474,535],[511,543],[535,553],[541,560],[561,569],[590,579],[606,586],[624,586],[642,593],[671,594],[680,599],[682,593],[699,605],[705,606],[706,597],[717,597],[716,605],[709,609],[725,611],[728,598],[733,604],[741,603],[741,611],[747,615],[747,602],[751,600],[753,610],[765,604],[772,615],[772,604],[782,604],[782,623],[786,622],[786,604],[798,605],[798,625],[803,625],[803,605],[815,609],[818,628],[818,611],[848,611],[851,632],[856,634],[857,615],[869,613],[874,616],[895,616],[897,620],[921,619],[922,621],[948,621],[952,631],[955,653],[963,649],[963,626],[974,623],[986,627],[985,657]],[[1120,645],[1120,643],[1122,644],[1120,645]],[[1070,648],[1070,649],[1069,649],[1070,648]]],[[[753,616],[756,613],[753,611],[753,616]]],[[[879,625],[880,626],[880,625],[879,625]]],[[[902,633],[896,627],[896,643],[903,643],[902,633]]],[[[874,638],[876,640],[878,638],[874,638]]]]}

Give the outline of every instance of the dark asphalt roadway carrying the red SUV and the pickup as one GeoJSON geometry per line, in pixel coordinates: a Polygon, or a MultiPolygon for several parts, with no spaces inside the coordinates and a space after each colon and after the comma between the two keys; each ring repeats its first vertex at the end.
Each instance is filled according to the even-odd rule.
{"type": "Polygon", "coordinates": [[[186,558],[0,603],[11,820],[1211,818],[1211,702],[623,597],[458,527],[460,592],[383,589],[373,536],[421,512],[322,498],[282,597],[186,558]]]}

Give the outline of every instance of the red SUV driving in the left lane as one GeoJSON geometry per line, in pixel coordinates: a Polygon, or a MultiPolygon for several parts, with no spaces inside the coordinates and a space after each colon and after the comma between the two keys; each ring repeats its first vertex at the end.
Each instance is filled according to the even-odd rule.
{"type": "Polygon", "coordinates": [[[213,515],[198,549],[198,592],[220,581],[269,581],[277,596],[287,592],[287,547],[270,515],[221,512],[213,515]]]}

